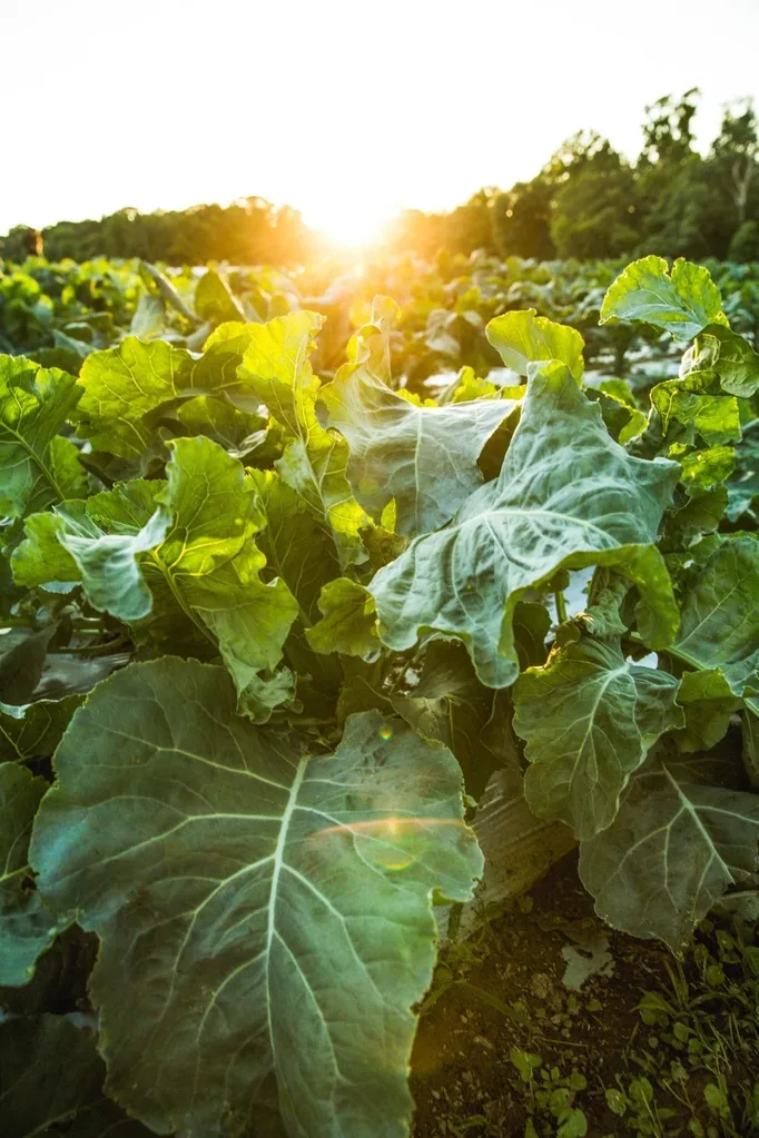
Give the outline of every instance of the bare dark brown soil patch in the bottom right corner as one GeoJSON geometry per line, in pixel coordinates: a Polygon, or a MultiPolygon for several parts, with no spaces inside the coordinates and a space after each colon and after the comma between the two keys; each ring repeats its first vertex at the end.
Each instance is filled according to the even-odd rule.
{"type": "MultiPolygon", "coordinates": [[[[638,1047],[645,1048],[650,1029],[637,1005],[645,991],[671,992],[668,965],[674,960],[657,942],[602,929],[576,866],[577,857],[570,853],[527,900],[486,925],[479,941],[454,946],[447,958],[444,953],[413,1053],[414,1138],[699,1132],[688,1124],[690,1111],[682,1125],[670,1120],[659,1131],[641,1129],[629,1113],[622,1119],[608,1105],[608,1088],[628,1089],[630,1079],[641,1074],[635,1055],[638,1047]],[[570,991],[562,983],[562,948],[577,943],[578,933],[581,939],[583,932],[594,931],[609,938],[613,972],[596,974],[570,991]],[[505,1006],[490,1006],[488,998],[505,1006]],[[541,1057],[534,1082],[520,1077],[513,1048],[541,1057]],[[542,1072],[550,1072],[550,1081],[542,1072]],[[579,1077],[586,1081],[570,1102],[584,1113],[587,1130],[581,1122],[577,1130],[562,1130],[546,1110],[546,1086],[551,1092],[572,1073],[576,1087],[581,1088],[579,1077]],[[543,1097],[536,1102],[541,1089],[543,1097]]],[[[673,1114],[683,1114],[671,1096],[666,1105],[676,1107],[673,1114]]],[[[704,1135],[735,1132],[710,1129],[709,1122],[707,1112],[704,1135]]]]}

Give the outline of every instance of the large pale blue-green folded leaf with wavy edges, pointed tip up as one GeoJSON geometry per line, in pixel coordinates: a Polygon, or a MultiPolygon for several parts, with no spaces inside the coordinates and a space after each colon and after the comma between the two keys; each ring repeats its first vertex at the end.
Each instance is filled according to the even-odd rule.
{"type": "Polygon", "coordinates": [[[677,612],[650,543],[678,473],[675,463],[633,459],[614,443],[566,366],[537,370],[498,479],[472,494],[447,529],[415,538],[374,576],[382,640],[403,651],[426,630],[457,636],[482,683],[505,687],[519,673],[519,599],[562,567],[608,564],[649,599],[660,615],[654,638],[667,643],[677,612]]]}

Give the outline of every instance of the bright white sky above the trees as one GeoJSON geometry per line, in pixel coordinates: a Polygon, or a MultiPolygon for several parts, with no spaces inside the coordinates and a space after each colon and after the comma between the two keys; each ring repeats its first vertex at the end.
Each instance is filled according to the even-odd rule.
{"type": "Polygon", "coordinates": [[[0,0],[0,233],[261,195],[360,240],[690,86],[706,145],[758,43],[759,0],[0,0]]]}

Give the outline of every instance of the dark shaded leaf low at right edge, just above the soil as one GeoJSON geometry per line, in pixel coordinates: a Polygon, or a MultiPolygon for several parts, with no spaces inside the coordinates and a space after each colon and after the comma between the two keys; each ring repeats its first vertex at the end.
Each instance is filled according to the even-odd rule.
{"type": "Polygon", "coordinates": [[[756,874],[759,794],[715,785],[723,774],[692,759],[652,761],[632,778],[614,822],[580,847],[599,916],[677,950],[728,887],[756,874]]]}

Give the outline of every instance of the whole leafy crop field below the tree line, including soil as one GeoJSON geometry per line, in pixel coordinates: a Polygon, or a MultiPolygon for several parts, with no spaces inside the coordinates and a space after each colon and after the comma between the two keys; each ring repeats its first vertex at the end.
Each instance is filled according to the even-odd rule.
{"type": "Polygon", "coordinates": [[[0,1135],[759,1135],[759,264],[0,261],[0,1135]]]}

